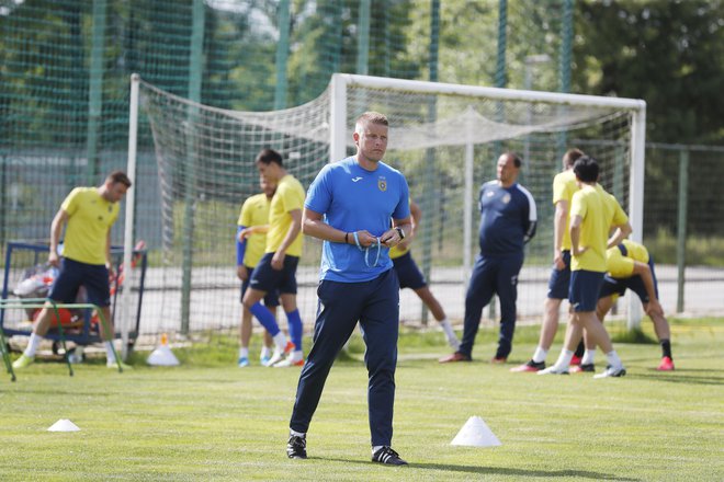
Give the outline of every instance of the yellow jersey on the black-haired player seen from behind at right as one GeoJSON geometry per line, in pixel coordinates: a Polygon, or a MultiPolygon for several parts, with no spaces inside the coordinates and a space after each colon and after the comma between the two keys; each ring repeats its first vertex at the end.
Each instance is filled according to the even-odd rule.
{"type": "Polygon", "coordinates": [[[584,254],[570,257],[570,269],[586,269],[606,273],[606,251],[609,231],[613,226],[624,225],[629,217],[615,197],[596,184],[585,185],[574,194],[570,217],[580,216],[579,245],[586,248],[584,254]]]}

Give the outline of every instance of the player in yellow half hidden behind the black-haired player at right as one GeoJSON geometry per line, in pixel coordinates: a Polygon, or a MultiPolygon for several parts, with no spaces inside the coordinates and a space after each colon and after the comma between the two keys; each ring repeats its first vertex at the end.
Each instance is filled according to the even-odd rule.
{"type": "MultiPolygon", "coordinates": [[[[563,156],[563,172],[553,179],[553,268],[548,278],[548,292],[543,311],[541,336],[533,357],[528,363],[511,368],[510,371],[539,371],[545,368],[545,358],[558,331],[561,303],[568,298],[570,285],[570,200],[578,191],[574,163],[584,156],[578,149],[569,149],[563,156]]],[[[575,358],[575,357],[574,357],[575,358]]],[[[574,363],[575,365],[575,363],[574,363]]]]}

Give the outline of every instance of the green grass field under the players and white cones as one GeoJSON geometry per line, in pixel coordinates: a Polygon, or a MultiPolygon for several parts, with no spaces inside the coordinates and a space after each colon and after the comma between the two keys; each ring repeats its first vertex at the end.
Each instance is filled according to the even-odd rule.
{"type": "Polygon", "coordinates": [[[435,362],[448,353],[440,333],[405,334],[394,447],[410,466],[401,468],[370,462],[359,340],[328,379],[309,460],[284,454],[298,369],[236,368],[228,336],[176,349],[176,368],[146,367],[142,353],[124,374],[90,360],[71,378],[61,364],[37,363],[15,383],[0,378],[0,480],[722,480],[724,320],[676,320],[672,333],[677,371],[654,370],[657,345],[620,343],[629,375],[604,380],[510,374],[532,353],[536,326],[518,330],[508,366],[486,362],[489,329],[478,359],[455,366],[435,362]],[[501,447],[450,445],[472,415],[501,447]],[[59,418],[81,432],[47,432],[59,418]]]}

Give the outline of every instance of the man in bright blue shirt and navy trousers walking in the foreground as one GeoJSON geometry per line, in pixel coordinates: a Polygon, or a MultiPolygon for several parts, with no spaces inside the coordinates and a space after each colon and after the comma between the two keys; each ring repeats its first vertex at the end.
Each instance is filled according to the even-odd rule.
{"type": "Polygon", "coordinates": [[[366,344],[372,461],[407,464],[391,447],[399,286],[388,251],[411,225],[407,181],[382,162],[387,131],[384,115],[362,114],[353,135],[357,154],[323,168],[305,200],[302,230],[324,243],[314,346],[290,421],[286,454],[293,459],[307,457],[306,432],[325,381],[359,321],[366,344]]]}

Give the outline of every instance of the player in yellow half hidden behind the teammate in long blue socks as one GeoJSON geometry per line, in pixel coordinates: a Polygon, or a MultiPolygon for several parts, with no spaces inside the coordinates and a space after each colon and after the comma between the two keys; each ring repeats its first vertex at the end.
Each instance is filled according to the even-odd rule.
{"type": "MultiPolygon", "coordinates": [[[[249,287],[249,275],[259,264],[267,248],[267,230],[269,229],[269,207],[276,191],[276,185],[259,176],[260,194],[247,198],[239,214],[236,240],[236,274],[241,280],[241,299],[249,287]]],[[[279,306],[279,291],[273,290],[264,296],[264,307],[272,314],[276,314],[279,306]]],[[[251,340],[251,311],[241,307],[241,325],[239,329],[239,358],[237,365],[242,368],[249,366],[249,341],[251,340]]],[[[264,343],[259,359],[262,365],[269,364],[273,341],[264,330],[264,343]]]]}

